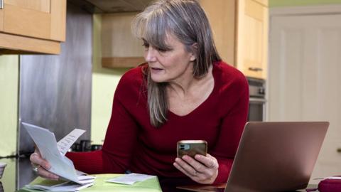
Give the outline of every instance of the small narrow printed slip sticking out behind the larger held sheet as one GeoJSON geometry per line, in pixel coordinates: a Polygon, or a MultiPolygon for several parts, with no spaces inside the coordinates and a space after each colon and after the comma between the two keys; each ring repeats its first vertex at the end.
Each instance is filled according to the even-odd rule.
{"type": "Polygon", "coordinates": [[[65,155],[72,144],[74,144],[83,133],[85,133],[85,130],[83,129],[73,129],[72,132],[67,134],[67,136],[65,136],[63,139],[60,139],[60,141],[57,143],[60,154],[65,155]]]}

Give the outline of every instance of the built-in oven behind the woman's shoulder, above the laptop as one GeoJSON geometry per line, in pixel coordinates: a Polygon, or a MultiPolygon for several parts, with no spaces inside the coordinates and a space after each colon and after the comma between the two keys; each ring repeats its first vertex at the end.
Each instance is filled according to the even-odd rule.
{"type": "Polygon", "coordinates": [[[262,122],[265,120],[266,99],[265,80],[259,78],[247,78],[249,82],[249,114],[248,122],[262,122]]]}

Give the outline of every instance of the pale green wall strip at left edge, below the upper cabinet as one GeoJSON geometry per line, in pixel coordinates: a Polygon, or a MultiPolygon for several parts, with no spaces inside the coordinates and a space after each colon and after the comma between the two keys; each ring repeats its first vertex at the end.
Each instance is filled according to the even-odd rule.
{"type": "Polygon", "coordinates": [[[0,156],[16,154],[18,55],[0,56],[0,156]]]}

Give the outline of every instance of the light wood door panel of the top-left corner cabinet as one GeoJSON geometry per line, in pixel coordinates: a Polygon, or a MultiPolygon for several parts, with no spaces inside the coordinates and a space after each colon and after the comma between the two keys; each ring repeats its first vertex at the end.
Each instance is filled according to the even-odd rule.
{"type": "Polygon", "coordinates": [[[4,0],[2,19],[6,33],[65,41],[65,0],[4,0]]]}

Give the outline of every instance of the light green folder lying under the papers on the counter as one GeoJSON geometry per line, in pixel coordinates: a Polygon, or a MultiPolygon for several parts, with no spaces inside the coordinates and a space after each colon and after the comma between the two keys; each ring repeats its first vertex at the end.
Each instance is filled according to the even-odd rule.
{"type": "MultiPolygon", "coordinates": [[[[81,191],[148,191],[148,192],[160,192],[161,186],[158,183],[158,178],[153,177],[149,178],[146,181],[136,182],[133,185],[126,185],[126,184],[119,184],[119,183],[109,183],[106,182],[109,178],[114,178],[117,176],[121,176],[122,174],[99,174],[95,175],[96,178],[94,179],[94,185],[90,186],[89,188],[84,188],[81,191]]],[[[31,182],[31,184],[55,184],[58,181],[51,181],[41,177],[36,178],[31,182]]],[[[31,190],[26,187],[23,187],[19,190],[21,191],[38,191],[38,190],[31,190]]],[[[40,191],[41,192],[41,191],[40,191]]]]}

